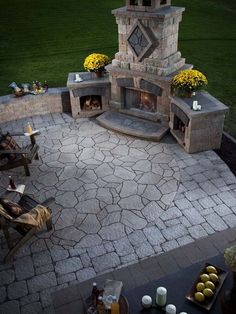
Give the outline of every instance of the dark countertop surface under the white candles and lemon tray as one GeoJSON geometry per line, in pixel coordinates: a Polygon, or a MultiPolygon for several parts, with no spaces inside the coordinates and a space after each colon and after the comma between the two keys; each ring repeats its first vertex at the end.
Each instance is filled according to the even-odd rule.
{"type": "MultiPolygon", "coordinates": [[[[218,266],[223,270],[225,269],[223,254],[209,259],[207,260],[207,262],[211,263],[212,265],[218,266]]],[[[204,308],[193,304],[191,301],[185,298],[204,265],[205,262],[196,263],[172,275],[162,277],[157,281],[152,281],[135,289],[125,291],[124,295],[128,299],[130,305],[130,313],[164,313],[162,309],[158,308],[143,310],[140,303],[142,296],[145,294],[150,295],[152,299],[155,300],[157,287],[163,286],[167,289],[167,304],[174,304],[177,308],[177,313],[187,312],[189,314],[200,314],[208,312],[211,314],[222,314],[220,305],[221,294],[225,290],[232,287],[231,274],[227,274],[223,286],[219,291],[210,311],[206,311],[204,308]]]]}

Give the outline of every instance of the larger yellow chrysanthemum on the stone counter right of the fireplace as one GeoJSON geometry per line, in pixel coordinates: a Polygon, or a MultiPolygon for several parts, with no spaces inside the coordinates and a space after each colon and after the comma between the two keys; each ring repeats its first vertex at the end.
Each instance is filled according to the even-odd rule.
{"type": "Polygon", "coordinates": [[[191,97],[193,92],[208,84],[206,76],[198,70],[183,70],[172,78],[171,89],[174,94],[191,97]]]}

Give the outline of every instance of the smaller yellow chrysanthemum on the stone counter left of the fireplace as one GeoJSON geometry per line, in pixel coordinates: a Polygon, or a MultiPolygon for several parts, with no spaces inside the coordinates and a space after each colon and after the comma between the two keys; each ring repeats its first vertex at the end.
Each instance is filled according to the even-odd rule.
{"type": "Polygon", "coordinates": [[[101,76],[105,70],[105,66],[110,63],[110,58],[101,53],[92,53],[84,60],[84,68],[86,71],[95,72],[97,76],[101,76]]]}

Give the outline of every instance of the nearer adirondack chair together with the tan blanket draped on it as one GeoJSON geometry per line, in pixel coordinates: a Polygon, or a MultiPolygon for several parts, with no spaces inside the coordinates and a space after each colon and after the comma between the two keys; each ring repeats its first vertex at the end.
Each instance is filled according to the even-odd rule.
{"type": "Polygon", "coordinates": [[[47,231],[52,230],[52,215],[49,205],[54,198],[48,198],[42,203],[38,203],[27,194],[21,196],[18,203],[14,203],[6,198],[0,198],[0,229],[5,236],[9,251],[4,257],[4,262],[11,261],[14,254],[31,237],[46,224],[47,231]],[[21,236],[13,240],[16,233],[21,236]]]}

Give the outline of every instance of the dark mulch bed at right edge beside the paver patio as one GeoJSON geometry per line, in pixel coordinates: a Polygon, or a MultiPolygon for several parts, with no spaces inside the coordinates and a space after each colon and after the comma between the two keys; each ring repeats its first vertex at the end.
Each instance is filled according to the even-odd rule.
{"type": "Polygon", "coordinates": [[[223,134],[221,147],[220,149],[216,149],[215,152],[224,160],[236,176],[236,140],[232,141],[228,136],[223,134]]]}

